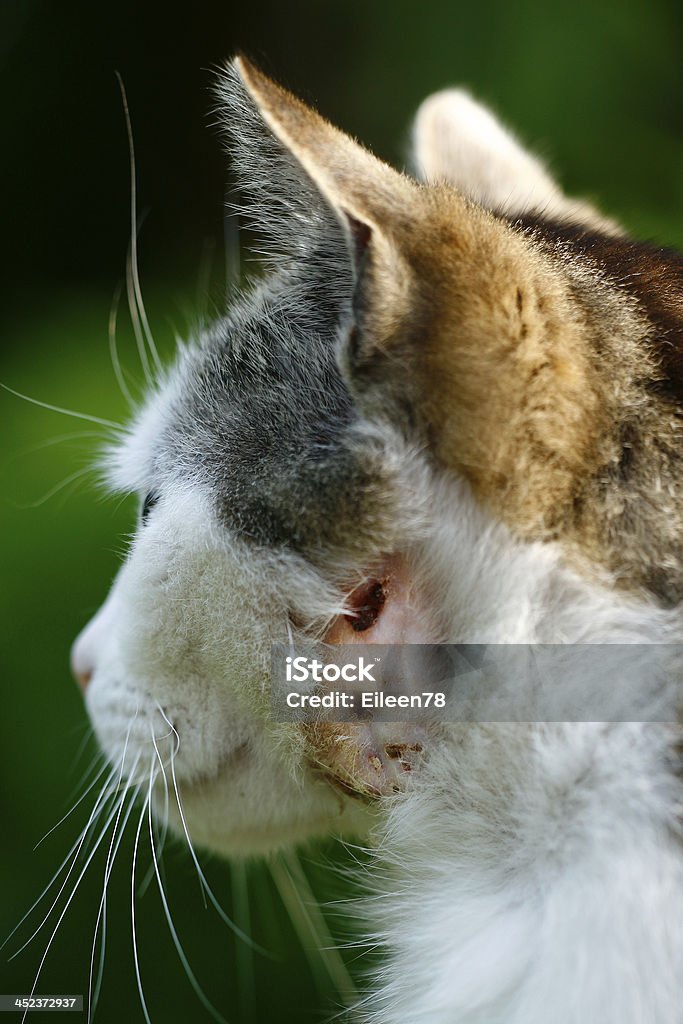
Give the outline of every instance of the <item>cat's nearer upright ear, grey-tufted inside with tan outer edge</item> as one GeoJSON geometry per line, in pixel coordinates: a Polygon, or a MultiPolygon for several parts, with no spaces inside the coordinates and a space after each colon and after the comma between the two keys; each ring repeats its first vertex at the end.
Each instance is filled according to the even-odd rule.
{"type": "Polygon", "coordinates": [[[360,359],[410,305],[411,273],[400,238],[421,187],[238,57],[221,79],[223,124],[231,136],[252,222],[281,248],[341,232],[352,270],[354,323],[342,364],[360,359]],[[267,221],[267,223],[264,223],[267,221]],[[279,226],[276,226],[279,224],[279,226]]]}

